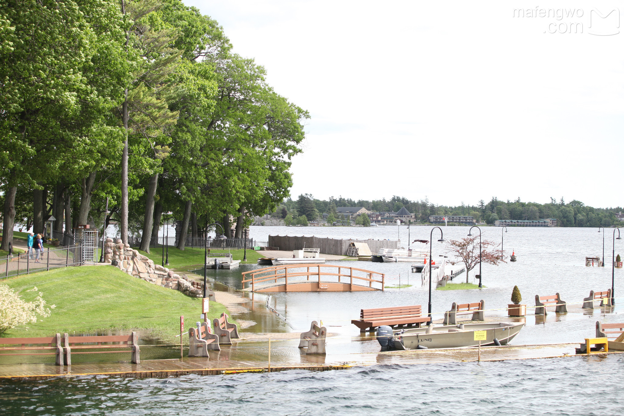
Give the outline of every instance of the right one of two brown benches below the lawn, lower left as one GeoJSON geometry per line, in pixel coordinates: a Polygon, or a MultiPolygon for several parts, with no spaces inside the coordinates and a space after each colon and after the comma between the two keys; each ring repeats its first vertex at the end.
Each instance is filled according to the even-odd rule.
{"type": "Polygon", "coordinates": [[[72,347],[75,350],[88,350],[88,349],[104,349],[104,348],[128,348],[124,351],[80,351],[74,352],[74,354],[110,354],[111,352],[132,352],[131,361],[132,364],[140,364],[139,358],[139,337],[137,333],[132,331],[132,335],[112,335],[112,336],[87,336],[87,337],[70,337],[67,334],[64,336],[64,349],[65,349],[65,365],[72,365],[72,347]],[[122,344],[102,344],[102,342],[121,342],[122,344]],[[80,345],[76,344],[97,344],[97,345],[80,345]]]}

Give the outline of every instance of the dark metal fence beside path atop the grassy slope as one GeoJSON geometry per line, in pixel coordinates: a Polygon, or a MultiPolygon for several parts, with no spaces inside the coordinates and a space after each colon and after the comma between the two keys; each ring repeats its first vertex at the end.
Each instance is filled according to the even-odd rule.
{"type": "Polygon", "coordinates": [[[0,257],[0,279],[67,266],[82,266],[82,264],[97,261],[93,256],[85,258],[84,254],[82,244],[73,244],[65,247],[45,248],[38,253],[31,250],[30,253],[17,256],[2,256],[0,257]]]}

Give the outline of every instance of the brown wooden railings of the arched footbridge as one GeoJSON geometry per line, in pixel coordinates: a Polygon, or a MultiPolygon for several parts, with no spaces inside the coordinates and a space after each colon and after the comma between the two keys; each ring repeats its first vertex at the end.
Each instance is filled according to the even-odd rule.
{"type": "MultiPolygon", "coordinates": [[[[278,279],[284,279],[285,285],[288,286],[288,279],[291,279],[290,283],[301,283],[302,279],[293,279],[306,276],[306,280],[310,280],[310,276],[318,276],[319,283],[321,282],[321,276],[334,276],[338,277],[338,283],[341,282],[341,278],[349,278],[349,284],[354,284],[353,279],[358,279],[364,282],[368,282],[370,288],[373,288],[373,283],[381,283],[381,288],[379,290],[384,290],[384,283],[386,281],[385,274],[379,273],[376,271],[366,270],[366,269],[358,269],[353,267],[345,267],[345,266],[336,266],[334,264],[288,264],[285,266],[272,266],[262,269],[255,269],[248,272],[243,273],[243,289],[245,289],[245,283],[251,282],[251,291],[255,291],[256,283],[263,283],[267,281],[274,281],[277,283],[278,279]],[[307,268],[306,271],[289,271],[292,269],[304,269],[307,268]],[[310,270],[311,268],[316,270],[310,270]],[[330,273],[328,271],[321,271],[321,268],[338,268],[338,273],[330,273]],[[342,270],[345,269],[348,271],[348,274],[342,273],[342,270]],[[366,277],[356,276],[353,272],[362,272],[366,274],[366,277]],[[278,272],[283,272],[278,274],[278,272]],[[272,274],[271,274],[272,273],[272,274]],[[259,276],[264,274],[265,276],[259,276]],[[373,276],[378,274],[381,276],[381,280],[373,279],[373,276]]],[[[346,283],[346,282],[345,282],[346,283]]],[[[359,285],[361,286],[361,285],[359,285]]]]}

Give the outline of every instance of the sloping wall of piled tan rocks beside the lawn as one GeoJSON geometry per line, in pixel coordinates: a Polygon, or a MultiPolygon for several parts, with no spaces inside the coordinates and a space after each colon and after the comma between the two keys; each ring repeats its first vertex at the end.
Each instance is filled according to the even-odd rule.
{"type": "Polygon", "coordinates": [[[180,276],[160,264],[154,264],[154,261],[130,248],[129,244],[122,243],[121,239],[117,239],[116,244],[112,238],[106,239],[104,262],[146,282],[178,290],[187,296],[202,297],[202,289],[193,288],[186,276],[180,276]]]}

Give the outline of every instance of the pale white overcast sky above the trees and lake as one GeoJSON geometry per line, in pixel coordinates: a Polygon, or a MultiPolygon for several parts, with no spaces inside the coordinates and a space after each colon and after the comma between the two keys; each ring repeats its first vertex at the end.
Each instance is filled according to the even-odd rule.
{"type": "Polygon", "coordinates": [[[624,1],[185,4],[310,112],[293,198],[624,205],[624,1]]]}

